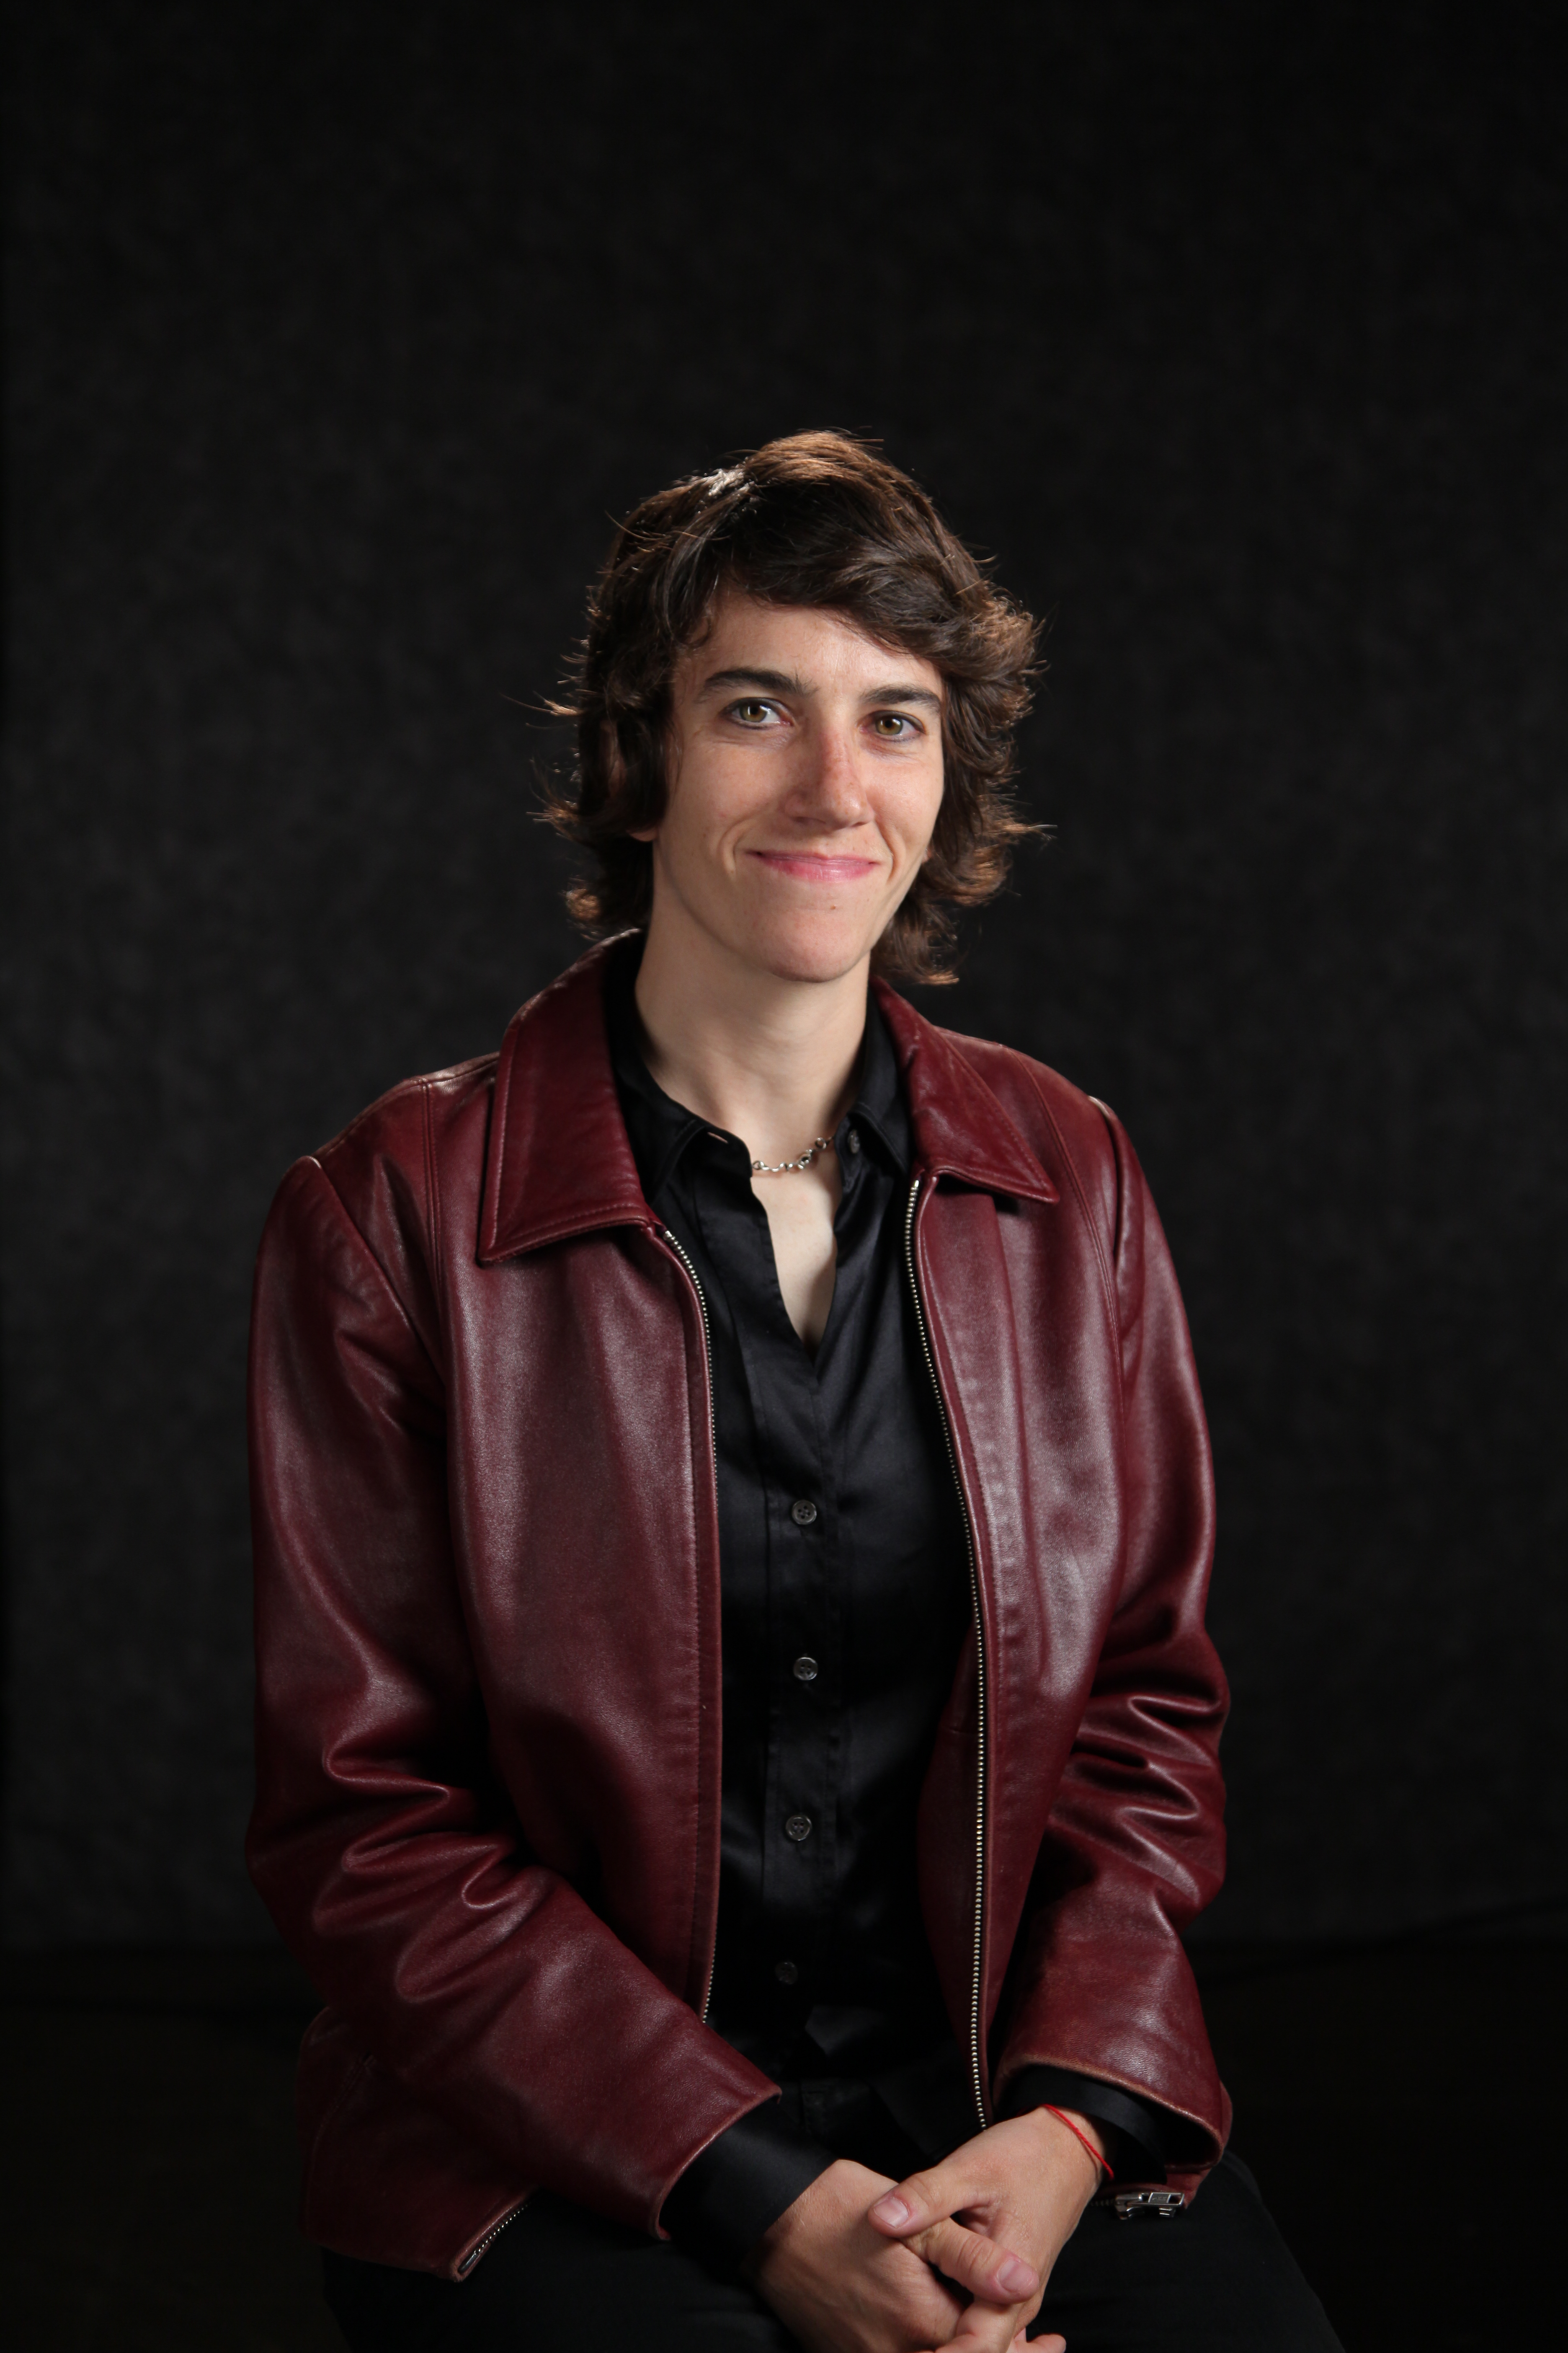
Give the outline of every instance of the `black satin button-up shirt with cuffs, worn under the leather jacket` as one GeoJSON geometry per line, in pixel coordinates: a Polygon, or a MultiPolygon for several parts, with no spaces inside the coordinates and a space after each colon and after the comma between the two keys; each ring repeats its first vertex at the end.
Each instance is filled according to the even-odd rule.
{"type": "MultiPolygon", "coordinates": [[[[969,1551],[905,1268],[912,1139],[882,1014],[867,1012],[856,1101],[832,1139],[837,1273],[809,1355],[745,1144],[654,1082],[632,979],[632,958],[618,958],[616,1087],[644,1198],[696,1275],[712,1351],[724,1779],[708,2014],[788,2087],[783,2113],[741,2118],[665,2200],[675,2235],[733,2261],[849,2153],[818,2137],[825,2108],[802,2111],[802,2082],[877,2089],[877,2113],[891,2111],[886,2169],[978,2129],[914,1871],[919,1788],[969,1626],[969,1551]]],[[[1138,2125],[1140,2104],[1110,2087],[1070,2075],[1034,2087],[1088,2113],[1095,2092],[1126,2108],[1105,2122],[1138,2125]]],[[[853,2113],[865,2139],[863,2106],[853,2113]]]]}

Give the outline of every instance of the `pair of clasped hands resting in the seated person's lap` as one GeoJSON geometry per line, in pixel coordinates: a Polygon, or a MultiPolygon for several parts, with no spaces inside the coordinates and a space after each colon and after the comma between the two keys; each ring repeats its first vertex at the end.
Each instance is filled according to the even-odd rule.
{"type": "MultiPolygon", "coordinates": [[[[1072,2122],[1100,2146],[1088,2118],[1072,2122]]],[[[1025,2353],[1025,2329],[1098,2186],[1048,2108],[992,2125],[907,2181],[839,2158],[748,2271],[806,2353],[1025,2353]]],[[[1065,2353],[1037,2337],[1030,2353],[1065,2353]]]]}

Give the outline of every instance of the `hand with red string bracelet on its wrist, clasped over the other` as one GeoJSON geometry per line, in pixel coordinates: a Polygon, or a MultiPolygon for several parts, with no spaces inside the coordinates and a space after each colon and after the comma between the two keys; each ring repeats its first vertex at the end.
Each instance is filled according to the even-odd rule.
{"type": "MultiPolygon", "coordinates": [[[[1072,2122],[1095,2148],[1103,2146],[1086,2115],[1074,2113],[1072,2122]]],[[[1034,2108],[1032,2115],[976,2134],[929,2172],[910,2174],[872,2205],[867,2221],[947,2275],[957,2275],[954,2254],[964,2257],[964,2285],[976,2282],[976,2301],[940,2341],[940,2353],[1009,2353],[1011,2346],[1023,2348],[1023,2332],[1039,2311],[1051,2266],[1077,2231],[1098,2181],[1100,2169],[1081,2141],[1048,2108],[1034,2108]],[[969,2245],[959,2249],[954,2233],[969,2245]],[[978,2247],[992,2249],[992,2261],[1004,2257],[994,2261],[990,2294],[978,2285],[978,2247]],[[1020,2273],[1034,2273],[1027,2287],[1013,2285],[1011,2264],[1020,2273]]],[[[1037,2337],[1032,2353],[1065,2353],[1065,2339],[1037,2337]]]]}

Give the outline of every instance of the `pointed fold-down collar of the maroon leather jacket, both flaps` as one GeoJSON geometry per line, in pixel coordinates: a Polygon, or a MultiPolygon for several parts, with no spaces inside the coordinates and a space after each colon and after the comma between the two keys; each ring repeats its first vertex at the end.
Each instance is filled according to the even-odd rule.
{"type": "MultiPolygon", "coordinates": [[[[616,941],[590,948],[517,1012],[496,1061],[484,1151],[480,1264],[599,1226],[656,1226],[621,1118],[604,1028],[616,941]]],[[[947,1031],[872,984],[903,1073],[914,1167],[987,1193],[1056,1200],[1056,1186],[947,1031]]]]}

